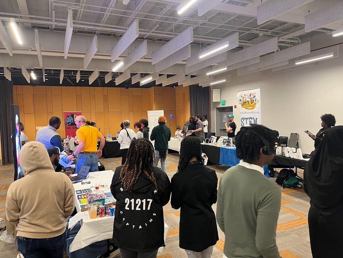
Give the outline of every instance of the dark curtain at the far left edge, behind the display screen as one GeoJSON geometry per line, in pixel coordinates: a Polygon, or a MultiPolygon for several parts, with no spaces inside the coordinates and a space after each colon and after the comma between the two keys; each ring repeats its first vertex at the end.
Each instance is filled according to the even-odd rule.
{"type": "Polygon", "coordinates": [[[0,80],[0,134],[2,163],[13,163],[11,104],[13,104],[13,82],[0,80]]]}

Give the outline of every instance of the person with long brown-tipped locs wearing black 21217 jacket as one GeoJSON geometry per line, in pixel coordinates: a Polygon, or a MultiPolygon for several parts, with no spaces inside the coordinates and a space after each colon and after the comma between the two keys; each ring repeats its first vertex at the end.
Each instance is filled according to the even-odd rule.
{"type": "Polygon", "coordinates": [[[154,161],[151,142],[133,140],[125,164],[112,179],[111,192],[117,199],[113,239],[122,258],[156,258],[164,246],[163,206],[170,199],[170,181],[154,161]]]}

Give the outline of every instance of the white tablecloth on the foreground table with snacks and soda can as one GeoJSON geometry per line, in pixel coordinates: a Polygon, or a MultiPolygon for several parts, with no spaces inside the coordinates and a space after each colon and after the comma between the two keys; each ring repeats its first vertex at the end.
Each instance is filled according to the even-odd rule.
{"type": "MultiPolygon", "coordinates": [[[[95,189],[95,183],[100,184],[107,184],[110,187],[112,178],[113,178],[114,171],[113,170],[105,170],[105,171],[98,171],[98,172],[90,172],[89,177],[84,182],[91,182],[90,184],[81,184],[75,183],[73,184],[75,190],[81,189],[88,189],[91,188],[92,190],[95,189]]],[[[77,195],[75,192],[75,207],[78,212],[81,212],[80,203],[77,200],[77,195]]],[[[88,213],[87,211],[85,211],[88,213]]],[[[70,244],[69,251],[73,252],[79,250],[83,247],[86,247],[92,243],[110,239],[113,236],[113,223],[114,217],[106,215],[105,217],[99,217],[94,219],[90,219],[89,215],[81,220],[81,228],[78,234],[76,234],[73,242],[70,244]]],[[[164,223],[164,240],[166,240],[167,233],[168,233],[168,225],[164,223]]],[[[163,251],[163,247],[158,249],[159,252],[163,251]]]]}

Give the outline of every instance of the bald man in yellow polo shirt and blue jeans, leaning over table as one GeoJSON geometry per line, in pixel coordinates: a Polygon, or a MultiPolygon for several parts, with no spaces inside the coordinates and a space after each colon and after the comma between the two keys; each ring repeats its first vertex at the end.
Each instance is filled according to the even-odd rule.
{"type": "Polygon", "coordinates": [[[101,157],[105,145],[105,137],[96,129],[96,127],[86,124],[86,118],[83,115],[75,117],[76,136],[79,146],[68,156],[68,162],[78,156],[76,162],[76,173],[79,172],[82,165],[90,166],[90,172],[98,170],[98,157],[101,157]],[[100,146],[97,149],[97,142],[100,139],[100,146]]]}

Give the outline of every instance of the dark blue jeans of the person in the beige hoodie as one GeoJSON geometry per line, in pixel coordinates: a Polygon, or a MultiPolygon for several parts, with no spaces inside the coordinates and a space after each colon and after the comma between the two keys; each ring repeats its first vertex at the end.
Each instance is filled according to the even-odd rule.
{"type": "Polygon", "coordinates": [[[67,231],[62,235],[51,238],[18,237],[18,251],[25,258],[63,258],[67,231]]]}

